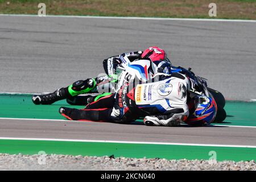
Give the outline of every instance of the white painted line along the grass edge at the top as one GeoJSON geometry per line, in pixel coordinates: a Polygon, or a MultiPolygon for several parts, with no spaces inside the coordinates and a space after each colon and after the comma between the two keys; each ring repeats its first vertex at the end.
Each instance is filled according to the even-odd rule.
{"type": "MultiPolygon", "coordinates": [[[[38,15],[22,15],[22,14],[0,14],[0,16],[28,16],[39,17],[38,15]]],[[[71,15],[46,15],[39,18],[97,18],[97,19],[141,19],[141,20],[178,20],[178,21],[203,21],[203,22],[251,22],[256,20],[243,19],[199,19],[199,18],[153,18],[153,17],[132,17],[132,16],[71,16],[71,15]]]]}

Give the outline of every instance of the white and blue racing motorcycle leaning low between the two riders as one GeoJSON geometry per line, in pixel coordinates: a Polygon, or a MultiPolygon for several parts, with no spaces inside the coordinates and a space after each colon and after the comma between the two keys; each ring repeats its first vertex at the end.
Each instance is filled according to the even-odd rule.
{"type": "MultiPolygon", "coordinates": [[[[117,93],[122,85],[127,84],[127,82],[130,82],[131,80],[137,79],[139,82],[149,82],[152,80],[158,81],[163,80],[164,77],[170,76],[173,73],[182,73],[187,76],[191,85],[191,89],[188,90],[190,98],[194,96],[207,96],[216,102],[217,113],[213,122],[222,122],[226,118],[224,96],[217,90],[209,88],[207,86],[207,79],[196,76],[195,73],[191,71],[191,68],[185,69],[183,67],[174,67],[170,63],[167,64],[167,68],[162,67],[163,70],[159,71],[159,68],[155,67],[154,63],[147,59],[131,62],[126,55],[122,55],[119,59],[122,63],[118,65],[115,70],[115,73],[119,73],[119,75],[115,77],[114,81],[109,81],[109,83],[111,83],[110,87],[114,93],[117,93]]],[[[101,84],[102,83],[98,85],[98,88],[101,87],[101,84]]],[[[105,86],[105,83],[103,85],[105,86]]],[[[101,96],[106,96],[106,94],[108,93],[99,94],[98,96],[77,96],[73,98],[72,101],[68,100],[68,103],[72,105],[86,105],[96,101],[101,96]]],[[[196,122],[193,123],[194,126],[196,124],[196,122]]]]}

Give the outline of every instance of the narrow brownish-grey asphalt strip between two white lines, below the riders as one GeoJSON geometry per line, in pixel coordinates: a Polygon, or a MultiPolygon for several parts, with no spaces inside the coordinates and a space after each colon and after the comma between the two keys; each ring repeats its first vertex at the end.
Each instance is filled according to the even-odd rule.
{"type": "Polygon", "coordinates": [[[99,122],[0,119],[0,137],[121,140],[256,146],[256,129],[236,127],[150,127],[99,122]]]}

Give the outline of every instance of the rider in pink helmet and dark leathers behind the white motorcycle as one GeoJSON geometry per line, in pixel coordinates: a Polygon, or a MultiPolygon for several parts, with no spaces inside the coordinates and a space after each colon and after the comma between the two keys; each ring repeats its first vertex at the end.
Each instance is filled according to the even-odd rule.
{"type": "MultiPolygon", "coordinates": [[[[154,70],[152,70],[152,73],[168,73],[168,71],[170,70],[170,68],[164,69],[167,66],[170,67],[171,63],[167,57],[167,53],[159,47],[150,47],[147,48],[145,51],[130,52],[125,53],[125,55],[131,62],[140,59],[150,60],[154,65],[152,66],[152,68],[155,68],[154,70]]],[[[103,61],[103,67],[106,72],[106,76],[79,80],[74,82],[72,85],[69,85],[68,87],[57,89],[53,93],[34,95],[32,96],[32,102],[34,102],[34,104],[36,105],[49,105],[53,104],[56,101],[67,99],[67,102],[69,104],[88,104],[88,101],[84,99],[85,97],[82,97],[82,99],[79,100],[79,97],[77,96],[79,94],[85,93],[98,93],[98,88],[102,85],[105,85],[106,87],[106,85],[109,85],[110,80],[117,81],[115,77],[118,74],[117,67],[118,65],[121,65],[121,60],[119,59],[120,56],[121,55],[109,57],[108,59],[105,59],[103,61]]],[[[107,92],[111,92],[110,88],[107,92]]],[[[103,96],[109,96],[109,93],[101,94],[100,96],[98,96],[98,98],[103,96]]],[[[88,99],[89,98],[91,97],[88,96],[88,99]]]]}

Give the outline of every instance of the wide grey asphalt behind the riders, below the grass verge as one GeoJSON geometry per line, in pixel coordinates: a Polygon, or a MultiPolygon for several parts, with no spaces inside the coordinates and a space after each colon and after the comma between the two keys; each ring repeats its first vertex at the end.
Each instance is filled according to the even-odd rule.
{"type": "Polygon", "coordinates": [[[159,46],[232,100],[255,99],[256,23],[0,16],[1,92],[52,92],[159,46]]]}

